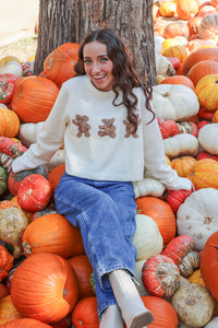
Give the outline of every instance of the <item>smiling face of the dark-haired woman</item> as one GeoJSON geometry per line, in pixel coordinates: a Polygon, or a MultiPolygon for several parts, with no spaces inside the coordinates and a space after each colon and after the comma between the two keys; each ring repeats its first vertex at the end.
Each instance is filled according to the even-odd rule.
{"type": "Polygon", "coordinates": [[[86,44],[83,49],[85,72],[99,91],[110,91],[114,77],[113,62],[108,57],[107,46],[99,42],[86,44]]]}

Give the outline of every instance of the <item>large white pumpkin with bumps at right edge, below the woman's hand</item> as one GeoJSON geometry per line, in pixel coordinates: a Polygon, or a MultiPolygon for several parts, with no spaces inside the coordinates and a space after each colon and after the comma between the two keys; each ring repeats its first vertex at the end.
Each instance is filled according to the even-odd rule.
{"type": "Polygon", "coordinates": [[[177,212],[179,235],[190,235],[194,248],[203,250],[208,237],[218,231],[218,190],[202,188],[192,192],[177,212]]]}

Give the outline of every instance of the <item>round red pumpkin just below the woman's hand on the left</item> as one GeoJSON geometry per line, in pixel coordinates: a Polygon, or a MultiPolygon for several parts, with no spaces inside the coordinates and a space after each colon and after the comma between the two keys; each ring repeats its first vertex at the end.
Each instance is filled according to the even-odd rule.
{"type": "Polygon", "coordinates": [[[17,201],[29,212],[37,212],[47,207],[51,198],[51,186],[40,174],[31,174],[22,181],[17,190],[17,201]]]}

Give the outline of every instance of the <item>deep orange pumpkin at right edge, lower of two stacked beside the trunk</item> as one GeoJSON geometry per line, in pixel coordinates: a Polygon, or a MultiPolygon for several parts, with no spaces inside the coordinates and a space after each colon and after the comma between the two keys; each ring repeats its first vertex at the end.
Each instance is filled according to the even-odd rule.
{"type": "Polygon", "coordinates": [[[218,74],[218,62],[215,60],[202,60],[196,62],[189,71],[187,78],[190,78],[194,85],[208,74],[218,74]]]}

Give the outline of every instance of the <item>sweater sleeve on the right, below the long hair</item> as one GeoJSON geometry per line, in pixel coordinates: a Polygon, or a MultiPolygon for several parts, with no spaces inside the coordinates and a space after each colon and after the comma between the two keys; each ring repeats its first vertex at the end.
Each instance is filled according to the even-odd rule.
{"type": "Polygon", "coordinates": [[[177,171],[167,164],[162,136],[155,118],[147,109],[143,110],[143,138],[144,138],[144,163],[145,169],[154,178],[162,183],[168,189],[192,189],[192,183],[187,178],[178,176],[177,171]]]}

